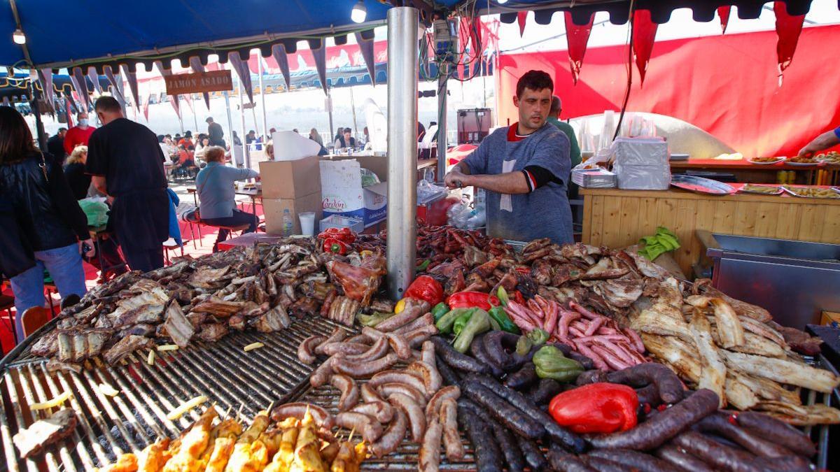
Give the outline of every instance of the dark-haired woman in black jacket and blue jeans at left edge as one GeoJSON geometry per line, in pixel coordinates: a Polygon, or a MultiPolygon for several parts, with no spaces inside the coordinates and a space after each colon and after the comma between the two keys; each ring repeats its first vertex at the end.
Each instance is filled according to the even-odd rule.
{"type": "MultiPolygon", "coordinates": [[[[29,126],[12,107],[0,107],[0,192],[0,199],[14,208],[19,240],[12,242],[12,250],[23,251],[29,262],[28,268],[5,263],[0,267],[11,278],[18,311],[15,330],[22,339],[20,315],[44,306],[44,270],[50,272],[62,299],[82,296],[87,287],[80,253],[86,250],[92,257],[95,252],[87,218],[64,171],[52,155],[35,149],[29,126]]],[[[9,249],[4,244],[5,250],[9,249]]]]}

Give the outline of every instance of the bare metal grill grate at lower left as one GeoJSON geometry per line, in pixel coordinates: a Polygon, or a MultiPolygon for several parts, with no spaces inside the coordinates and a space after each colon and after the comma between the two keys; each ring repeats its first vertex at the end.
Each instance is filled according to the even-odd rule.
{"type": "Polygon", "coordinates": [[[154,365],[147,364],[146,353],[140,352],[116,366],[91,359],[79,374],[50,373],[45,359],[32,357],[26,349],[21,355],[24,360],[8,364],[0,380],[0,438],[6,466],[11,471],[39,470],[40,459],[18,457],[12,437],[51,413],[32,412],[30,404],[64,391],[73,394],[68,403],[79,413],[79,426],[58,448],[48,448],[44,463],[53,471],[101,467],[156,438],[176,437],[199,415],[193,410],[173,422],[166,418],[167,412],[199,395],[207,396],[207,405],[239,411],[249,422],[271,401],[291,401],[308,385],[312,366],[297,360],[298,344],[338,326],[323,318],[296,320],[278,333],[233,333],[216,343],[157,352],[154,365]],[[257,341],[265,347],[243,351],[245,345],[257,341]],[[103,395],[97,387],[102,383],[121,393],[103,395]]]}

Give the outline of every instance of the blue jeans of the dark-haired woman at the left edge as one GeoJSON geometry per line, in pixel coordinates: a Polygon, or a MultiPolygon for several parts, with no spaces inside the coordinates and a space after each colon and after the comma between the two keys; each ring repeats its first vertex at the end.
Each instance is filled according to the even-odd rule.
{"type": "Polygon", "coordinates": [[[18,339],[24,338],[21,317],[31,307],[44,306],[44,269],[50,271],[55,281],[55,287],[64,299],[76,294],[83,296],[87,293],[85,286],[85,270],[81,267],[79,245],[45,251],[35,251],[35,266],[25,272],[12,277],[12,291],[14,292],[14,307],[18,316],[14,320],[14,329],[18,339]]]}

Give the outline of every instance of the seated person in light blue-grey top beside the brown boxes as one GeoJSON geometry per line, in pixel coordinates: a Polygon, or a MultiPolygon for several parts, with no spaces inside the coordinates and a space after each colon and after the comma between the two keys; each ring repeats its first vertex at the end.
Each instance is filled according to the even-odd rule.
{"type": "MultiPolygon", "coordinates": [[[[234,182],[259,177],[256,170],[237,169],[224,165],[224,149],[218,146],[207,148],[204,160],[207,166],[198,172],[196,191],[198,193],[198,212],[202,223],[210,226],[238,226],[247,224],[245,233],[253,233],[259,220],[253,213],[243,212],[236,207],[234,182]]],[[[213,252],[218,252],[218,244],[228,239],[228,230],[219,228],[213,252]]]]}

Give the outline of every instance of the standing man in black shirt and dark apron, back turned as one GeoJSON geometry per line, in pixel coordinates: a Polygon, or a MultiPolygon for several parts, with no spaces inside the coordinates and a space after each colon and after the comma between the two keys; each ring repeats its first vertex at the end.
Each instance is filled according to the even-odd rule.
{"type": "Polygon", "coordinates": [[[108,226],[116,233],[132,270],[148,272],[163,267],[170,202],[157,136],[124,118],[113,97],[100,97],[96,112],[102,128],[88,141],[86,170],[111,203],[108,226]]]}

